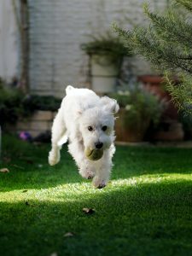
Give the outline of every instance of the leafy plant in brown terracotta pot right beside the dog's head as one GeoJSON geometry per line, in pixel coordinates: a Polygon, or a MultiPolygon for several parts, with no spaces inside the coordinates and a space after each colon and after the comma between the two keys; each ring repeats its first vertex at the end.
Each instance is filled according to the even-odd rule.
{"type": "Polygon", "coordinates": [[[141,142],[150,123],[158,125],[165,104],[157,96],[134,84],[129,90],[113,95],[119,102],[119,118],[116,122],[117,141],[141,142]]]}

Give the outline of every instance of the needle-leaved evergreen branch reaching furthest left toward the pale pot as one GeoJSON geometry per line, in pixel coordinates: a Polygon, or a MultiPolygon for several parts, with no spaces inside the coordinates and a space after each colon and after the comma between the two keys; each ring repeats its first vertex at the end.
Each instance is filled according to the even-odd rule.
{"type": "Polygon", "coordinates": [[[136,27],[132,31],[125,31],[118,26],[114,26],[114,29],[119,33],[119,37],[124,39],[125,46],[135,54],[143,55],[158,69],[160,67],[162,70],[180,68],[187,73],[192,73],[189,61],[178,59],[179,50],[174,49],[172,44],[161,42],[153,31],[141,27],[136,27]]]}

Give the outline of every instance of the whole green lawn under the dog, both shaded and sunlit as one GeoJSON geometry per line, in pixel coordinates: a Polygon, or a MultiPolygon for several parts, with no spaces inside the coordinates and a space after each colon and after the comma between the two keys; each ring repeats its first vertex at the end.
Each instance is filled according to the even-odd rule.
{"type": "Polygon", "coordinates": [[[192,255],[192,148],[119,146],[104,189],[48,152],[3,137],[0,255],[192,255]]]}

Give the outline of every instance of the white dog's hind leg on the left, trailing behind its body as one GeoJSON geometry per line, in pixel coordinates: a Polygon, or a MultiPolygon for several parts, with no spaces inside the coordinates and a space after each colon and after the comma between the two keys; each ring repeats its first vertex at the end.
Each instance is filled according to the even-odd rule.
{"type": "Polygon", "coordinates": [[[54,166],[60,161],[60,149],[63,143],[67,143],[66,125],[63,119],[61,108],[55,116],[52,126],[51,145],[49,151],[49,165],[54,166]]]}

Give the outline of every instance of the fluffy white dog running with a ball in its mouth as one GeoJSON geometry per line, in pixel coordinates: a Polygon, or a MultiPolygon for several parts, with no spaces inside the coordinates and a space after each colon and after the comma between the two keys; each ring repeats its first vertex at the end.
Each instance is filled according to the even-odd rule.
{"type": "Polygon", "coordinates": [[[115,148],[114,113],[118,103],[108,96],[96,96],[89,89],[68,85],[52,127],[52,148],[49,165],[60,160],[60,149],[67,143],[68,150],[79,167],[82,177],[92,178],[96,188],[107,185],[115,148]]]}

